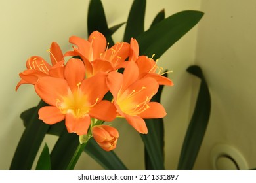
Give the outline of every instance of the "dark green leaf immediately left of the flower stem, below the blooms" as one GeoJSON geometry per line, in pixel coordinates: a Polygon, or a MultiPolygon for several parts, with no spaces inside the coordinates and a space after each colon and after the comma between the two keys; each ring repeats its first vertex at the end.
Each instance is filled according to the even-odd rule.
{"type": "Polygon", "coordinates": [[[75,133],[68,133],[65,128],[51,152],[52,169],[67,169],[78,145],[79,136],[75,133]]]}

